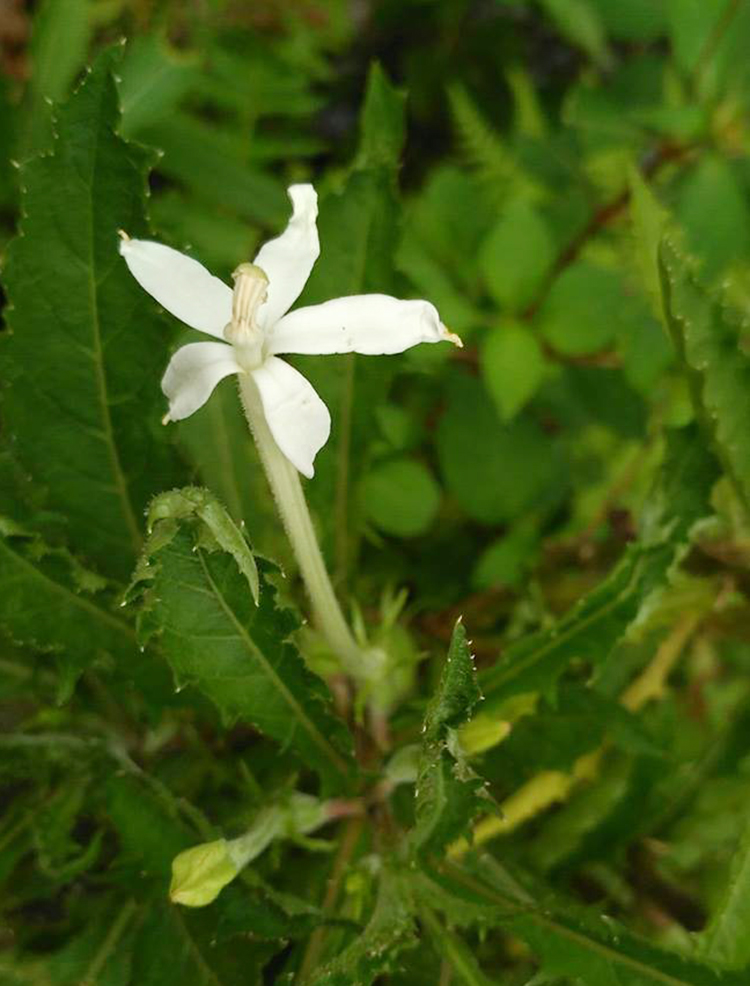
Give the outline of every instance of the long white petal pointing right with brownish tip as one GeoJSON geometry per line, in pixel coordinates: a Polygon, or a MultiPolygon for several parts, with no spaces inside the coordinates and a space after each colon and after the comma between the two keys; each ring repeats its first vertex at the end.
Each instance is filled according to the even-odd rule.
{"type": "Polygon", "coordinates": [[[429,301],[400,301],[385,294],[335,298],[298,308],[268,333],[271,353],[402,353],[420,342],[454,342],[429,301]]]}

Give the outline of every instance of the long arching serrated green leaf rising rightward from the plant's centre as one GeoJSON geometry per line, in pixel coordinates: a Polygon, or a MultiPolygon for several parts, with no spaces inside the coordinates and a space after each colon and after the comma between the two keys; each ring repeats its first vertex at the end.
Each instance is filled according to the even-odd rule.
{"type": "Polygon", "coordinates": [[[484,672],[487,701],[482,711],[499,707],[511,695],[554,687],[573,660],[603,661],[652,593],[666,584],[693,525],[710,513],[708,498],[716,478],[716,463],[698,430],[673,431],[641,540],[559,623],[523,638],[484,672]]]}

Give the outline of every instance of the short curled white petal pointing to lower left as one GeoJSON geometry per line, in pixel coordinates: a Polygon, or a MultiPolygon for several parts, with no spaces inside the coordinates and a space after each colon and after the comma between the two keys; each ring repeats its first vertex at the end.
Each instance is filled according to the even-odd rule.
{"type": "Polygon", "coordinates": [[[161,381],[169,398],[169,417],[172,421],[189,417],[203,407],[220,380],[242,372],[234,350],[223,342],[191,342],[178,349],[161,381]]]}

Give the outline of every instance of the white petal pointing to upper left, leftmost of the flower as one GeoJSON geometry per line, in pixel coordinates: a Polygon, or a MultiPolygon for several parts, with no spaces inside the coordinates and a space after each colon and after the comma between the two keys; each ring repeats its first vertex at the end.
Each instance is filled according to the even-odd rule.
{"type": "Polygon", "coordinates": [[[120,241],[120,253],[140,286],[191,329],[224,338],[232,289],[192,257],[151,240],[120,241]]]}

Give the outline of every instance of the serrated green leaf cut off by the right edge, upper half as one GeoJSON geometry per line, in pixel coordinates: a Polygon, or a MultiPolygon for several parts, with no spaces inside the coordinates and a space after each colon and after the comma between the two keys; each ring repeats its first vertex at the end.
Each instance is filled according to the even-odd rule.
{"type": "Polygon", "coordinates": [[[740,348],[741,319],[698,279],[671,240],[659,252],[664,314],[692,384],[696,411],[720,458],[750,501],[750,359],[740,348]]]}

